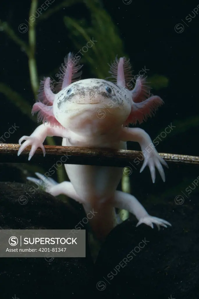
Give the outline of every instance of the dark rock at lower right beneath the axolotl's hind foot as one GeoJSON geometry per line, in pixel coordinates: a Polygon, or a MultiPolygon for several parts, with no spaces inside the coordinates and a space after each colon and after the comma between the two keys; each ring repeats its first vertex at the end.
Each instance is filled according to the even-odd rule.
{"type": "Polygon", "coordinates": [[[95,298],[198,299],[198,197],[182,205],[172,199],[144,206],[172,227],[136,228],[133,220],[111,231],[95,264],[95,298]]]}

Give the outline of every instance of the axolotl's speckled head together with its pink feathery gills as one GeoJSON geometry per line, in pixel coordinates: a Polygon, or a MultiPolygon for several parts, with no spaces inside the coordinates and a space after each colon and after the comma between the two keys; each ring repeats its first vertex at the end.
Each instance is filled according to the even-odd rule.
{"type": "Polygon", "coordinates": [[[60,68],[58,93],[54,93],[49,77],[41,81],[38,102],[32,114],[38,121],[80,132],[94,128],[106,132],[110,128],[142,123],[164,102],[150,97],[150,88],[143,76],[131,74],[129,60],[121,57],[112,63],[109,73],[114,82],[102,79],[80,80],[82,65],[69,53],[60,68]],[[134,88],[131,82],[134,81],[134,88]]]}

